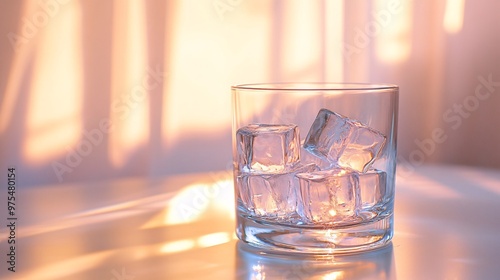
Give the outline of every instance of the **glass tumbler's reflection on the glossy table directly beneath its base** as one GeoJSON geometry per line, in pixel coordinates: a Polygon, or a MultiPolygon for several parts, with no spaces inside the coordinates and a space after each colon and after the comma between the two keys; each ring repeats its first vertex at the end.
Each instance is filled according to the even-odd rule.
{"type": "Polygon", "coordinates": [[[395,279],[392,243],[354,255],[299,258],[264,254],[239,241],[238,279],[395,279]]]}

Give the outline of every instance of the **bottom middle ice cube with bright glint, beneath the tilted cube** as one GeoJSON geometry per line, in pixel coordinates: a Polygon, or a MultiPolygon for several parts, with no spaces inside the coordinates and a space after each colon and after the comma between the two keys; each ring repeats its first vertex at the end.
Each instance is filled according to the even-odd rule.
{"type": "Polygon", "coordinates": [[[297,174],[298,214],[307,223],[349,223],[361,207],[357,172],[337,168],[297,174]]]}

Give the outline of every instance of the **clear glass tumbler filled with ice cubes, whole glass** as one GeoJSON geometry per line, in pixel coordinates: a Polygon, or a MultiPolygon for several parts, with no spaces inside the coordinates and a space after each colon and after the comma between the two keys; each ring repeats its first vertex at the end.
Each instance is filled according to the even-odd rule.
{"type": "Polygon", "coordinates": [[[277,254],[344,254],[393,236],[399,88],[232,87],[236,234],[277,254]]]}

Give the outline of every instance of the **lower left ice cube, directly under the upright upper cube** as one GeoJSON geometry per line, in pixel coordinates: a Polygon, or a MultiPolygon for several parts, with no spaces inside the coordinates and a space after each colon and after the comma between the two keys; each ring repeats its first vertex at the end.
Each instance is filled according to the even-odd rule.
{"type": "Polygon", "coordinates": [[[296,213],[301,172],[318,170],[314,164],[296,165],[285,173],[245,173],[237,176],[239,198],[248,211],[260,217],[286,218],[296,213]]]}

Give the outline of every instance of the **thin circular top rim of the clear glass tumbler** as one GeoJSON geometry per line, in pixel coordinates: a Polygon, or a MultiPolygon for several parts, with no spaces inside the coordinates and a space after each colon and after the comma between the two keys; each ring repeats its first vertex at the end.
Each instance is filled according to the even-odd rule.
{"type": "Polygon", "coordinates": [[[255,91],[360,91],[395,90],[399,86],[387,83],[283,82],[253,83],[231,86],[232,90],[255,91]]]}

